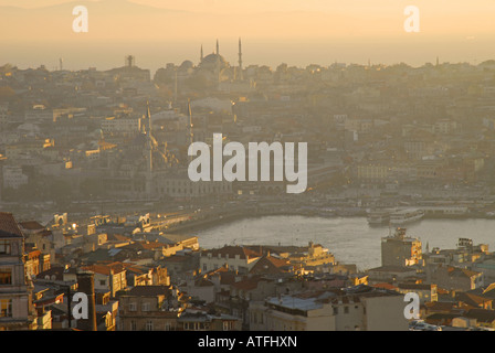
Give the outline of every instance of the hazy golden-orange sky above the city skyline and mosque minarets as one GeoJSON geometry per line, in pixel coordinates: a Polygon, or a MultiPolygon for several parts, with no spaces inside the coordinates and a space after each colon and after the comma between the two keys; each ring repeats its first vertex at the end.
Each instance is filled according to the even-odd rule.
{"type": "Polygon", "coordinates": [[[67,68],[119,66],[134,54],[156,69],[197,62],[217,39],[245,64],[327,65],[335,61],[451,62],[495,57],[494,0],[0,0],[0,65],[67,68]],[[74,33],[72,9],[88,9],[88,33],[74,33]],[[420,10],[420,33],[406,33],[403,11],[420,10]],[[494,50],[492,49],[494,47],[494,50]]]}

